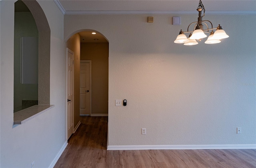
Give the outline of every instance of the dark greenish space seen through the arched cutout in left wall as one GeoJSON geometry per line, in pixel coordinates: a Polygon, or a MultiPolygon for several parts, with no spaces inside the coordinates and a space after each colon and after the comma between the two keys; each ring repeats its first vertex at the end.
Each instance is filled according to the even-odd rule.
{"type": "Polygon", "coordinates": [[[28,7],[14,3],[14,113],[38,105],[38,28],[28,7]]]}

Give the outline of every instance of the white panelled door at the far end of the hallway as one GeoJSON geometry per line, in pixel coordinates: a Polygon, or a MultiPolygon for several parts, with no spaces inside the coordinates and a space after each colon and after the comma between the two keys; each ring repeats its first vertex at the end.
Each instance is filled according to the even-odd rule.
{"type": "Polygon", "coordinates": [[[80,115],[91,114],[91,61],[80,61],[80,115]]]}

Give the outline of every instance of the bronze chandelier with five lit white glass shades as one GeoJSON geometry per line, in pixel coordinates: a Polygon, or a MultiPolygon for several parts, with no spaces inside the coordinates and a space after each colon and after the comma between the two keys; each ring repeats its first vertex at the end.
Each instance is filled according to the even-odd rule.
{"type": "Polygon", "coordinates": [[[198,42],[196,40],[201,41],[202,38],[207,37],[207,35],[205,33],[210,34],[208,39],[204,42],[206,44],[220,43],[221,39],[229,37],[226,34],[226,32],[224,30],[222,30],[222,27],[220,26],[220,24],[218,25],[218,27],[213,28],[212,22],[210,22],[209,20],[202,20],[202,18],[204,17],[204,14],[202,16],[202,11],[205,12],[205,9],[204,9],[204,5],[201,0],[199,1],[197,11],[199,12],[198,21],[192,22],[188,25],[188,29],[190,26],[194,25],[193,31],[183,32],[182,30],[180,30],[180,34],[177,36],[174,43],[184,43],[184,45],[186,45],[186,46],[196,45],[196,44],[198,44],[198,42]],[[207,23],[209,25],[211,25],[212,28],[209,28],[207,23]],[[207,29],[204,29],[203,24],[207,27],[207,29]],[[210,30],[212,30],[212,31],[210,31],[210,30]],[[213,30],[216,30],[216,31],[214,32],[213,30]],[[186,35],[184,33],[190,33],[188,38],[186,37],[186,35]]]}

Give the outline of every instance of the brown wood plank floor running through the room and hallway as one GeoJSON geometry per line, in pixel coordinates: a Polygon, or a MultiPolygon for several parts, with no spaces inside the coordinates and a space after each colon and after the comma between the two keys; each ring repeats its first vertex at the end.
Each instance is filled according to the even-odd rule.
{"type": "Polygon", "coordinates": [[[107,120],[82,116],[54,168],[256,168],[256,149],[106,150],[107,120]]]}

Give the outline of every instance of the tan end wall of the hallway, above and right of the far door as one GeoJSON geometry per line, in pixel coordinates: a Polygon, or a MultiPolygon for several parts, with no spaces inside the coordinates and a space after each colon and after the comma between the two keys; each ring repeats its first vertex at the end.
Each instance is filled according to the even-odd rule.
{"type": "Polygon", "coordinates": [[[92,116],[108,114],[108,43],[81,43],[81,60],[92,60],[92,116]]]}

